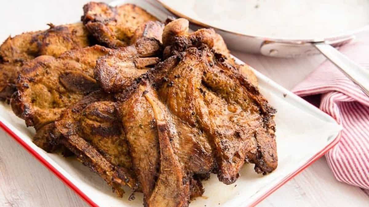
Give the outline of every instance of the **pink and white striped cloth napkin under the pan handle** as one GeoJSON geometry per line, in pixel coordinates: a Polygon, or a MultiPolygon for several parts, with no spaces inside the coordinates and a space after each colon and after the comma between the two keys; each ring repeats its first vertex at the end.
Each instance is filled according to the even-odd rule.
{"type": "MultiPolygon", "coordinates": [[[[369,36],[340,51],[369,70],[369,36]]],[[[292,91],[301,97],[320,94],[319,108],[343,127],[339,143],[325,155],[335,178],[369,189],[369,97],[328,60],[292,91]]]]}

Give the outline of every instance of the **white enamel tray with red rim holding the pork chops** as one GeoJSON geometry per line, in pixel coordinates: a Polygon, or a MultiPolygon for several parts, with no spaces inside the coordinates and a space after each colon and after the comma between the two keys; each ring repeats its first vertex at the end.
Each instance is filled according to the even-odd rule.
{"type": "MultiPolygon", "coordinates": [[[[165,20],[168,14],[158,4],[143,0],[114,1],[111,5],[123,3],[137,4],[160,20],[165,20]]],[[[237,62],[242,63],[240,60],[237,62]]],[[[254,165],[246,164],[240,172],[241,176],[232,185],[224,185],[217,180],[217,176],[212,175],[203,182],[203,197],[192,201],[191,207],[254,206],[338,142],[341,127],[334,119],[258,71],[255,74],[260,91],[278,111],[275,117],[278,168],[263,176],[254,172],[254,165]]],[[[24,121],[4,103],[0,105],[0,126],[91,206],[142,206],[141,193],[136,193],[135,200],[128,201],[130,189],[127,188],[124,197],[118,198],[103,179],[75,158],[49,154],[38,148],[31,140],[34,130],[27,128],[24,121]]]]}

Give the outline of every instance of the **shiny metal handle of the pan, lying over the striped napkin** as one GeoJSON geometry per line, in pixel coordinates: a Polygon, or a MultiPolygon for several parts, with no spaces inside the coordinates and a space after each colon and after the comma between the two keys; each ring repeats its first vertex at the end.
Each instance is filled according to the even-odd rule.
{"type": "Polygon", "coordinates": [[[337,49],[324,42],[313,43],[328,60],[335,64],[348,78],[369,96],[369,71],[354,63],[337,49]]]}

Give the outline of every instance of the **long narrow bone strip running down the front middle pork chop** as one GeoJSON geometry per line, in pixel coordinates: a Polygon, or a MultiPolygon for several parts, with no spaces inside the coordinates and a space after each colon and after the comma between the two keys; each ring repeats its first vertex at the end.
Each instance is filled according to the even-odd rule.
{"type": "Polygon", "coordinates": [[[144,97],[152,107],[158,129],[158,140],[160,148],[159,175],[155,188],[147,200],[147,206],[176,206],[186,207],[189,205],[190,185],[176,151],[172,146],[172,130],[168,122],[168,113],[165,106],[156,98],[149,88],[144,97]]]}

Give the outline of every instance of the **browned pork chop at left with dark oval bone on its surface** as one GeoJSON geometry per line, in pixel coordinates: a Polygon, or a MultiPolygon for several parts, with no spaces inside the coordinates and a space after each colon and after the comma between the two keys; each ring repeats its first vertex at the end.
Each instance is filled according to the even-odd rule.
{"type": "Polygon", "coordinates": [[[22,68],[11,107],[27,126],[35,127],[35,143],[39,147],[53,151],[58,136],[42,128],[52,129],[63,110],[100,88],[93,78],[93,69],[96,60],[110,50],[96,45],[70,50],[59,58],[39,56],[22,68]]]}

